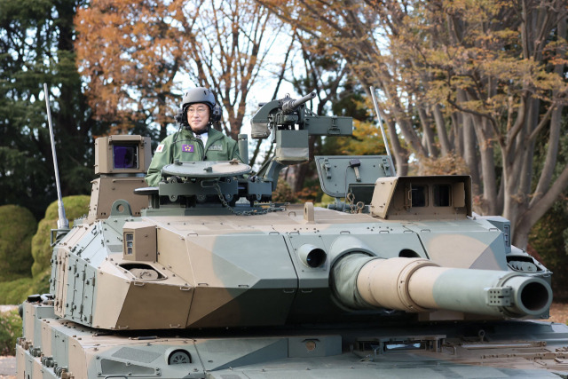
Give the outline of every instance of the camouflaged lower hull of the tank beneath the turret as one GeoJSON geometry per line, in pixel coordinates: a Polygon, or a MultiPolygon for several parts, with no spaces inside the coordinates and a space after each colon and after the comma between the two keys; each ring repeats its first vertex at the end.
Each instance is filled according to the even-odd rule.
{"type": "Polygon", "coordinates": [[[455,336],[454,328],[437,324],[398,333],[390,327],[341,334],[283,329],[277,336],[233,330],[231,337],[158,337],[84,328],[56,319],[51,305],[28,302],[24,312],[24,336],[16,346],[19,378],[557,378],[566,374],[568,359],[568,328],[548,322],[515,328],[493,323],[493,330],[487,329],[491,342],[483,341],[484,324],[471,323],[465,327],[477,327],[478,336],[466,340],[455,336]],[[518,328],[531,338],[511,340],[518,328]],[[406,349],[400,349],[403,344],[406,349]],[[352,350],[345,351],[345,345],[352,350]],[[186,359],[173,363],[178,354],[186,359]]]}

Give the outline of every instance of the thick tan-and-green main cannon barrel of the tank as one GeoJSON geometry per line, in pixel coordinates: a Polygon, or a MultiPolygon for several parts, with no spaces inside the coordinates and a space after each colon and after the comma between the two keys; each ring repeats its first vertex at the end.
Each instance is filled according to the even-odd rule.
{"type": "Polygon", "coordinates": [[[540,316],[552,303],[550,285],[540,277],[440,267],[422,258],[351,255],[335,264],[332,281],[335,295],[353,309],[447,310],[518,318],[540,316]]]}

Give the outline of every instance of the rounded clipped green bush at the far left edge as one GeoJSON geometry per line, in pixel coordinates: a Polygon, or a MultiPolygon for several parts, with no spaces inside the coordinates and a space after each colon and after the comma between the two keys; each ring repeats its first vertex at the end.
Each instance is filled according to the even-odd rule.
{"type": "Polygon", "coordinates": [[[0,206],[0,281],[29,276],[34,259],[31,241],[36,218],[18,205],[0,206]]]}

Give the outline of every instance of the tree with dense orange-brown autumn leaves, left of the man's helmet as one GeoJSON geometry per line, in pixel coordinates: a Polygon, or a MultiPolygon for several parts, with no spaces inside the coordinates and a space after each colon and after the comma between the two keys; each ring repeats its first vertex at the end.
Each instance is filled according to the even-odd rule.
{"type": "Polygon", "coordinates": [[[111,132],[155,122],[160,139],[175,114],[174,78],[193,41],[182,1],[93,0],[75,17],[77,65],[99,120],[111,132]]]}

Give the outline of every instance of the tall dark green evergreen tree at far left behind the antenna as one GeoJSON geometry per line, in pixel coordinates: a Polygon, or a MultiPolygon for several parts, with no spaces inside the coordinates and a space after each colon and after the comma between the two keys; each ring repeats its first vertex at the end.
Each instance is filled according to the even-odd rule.
{"type": "Polygon", "coordinates": [[[89,193],[91,119],[75,69],[73,18],[83,1],[0,1],[0,204],[19,204],[37,219],[56,199],[43,83],[64,194],[89,193]]]}

